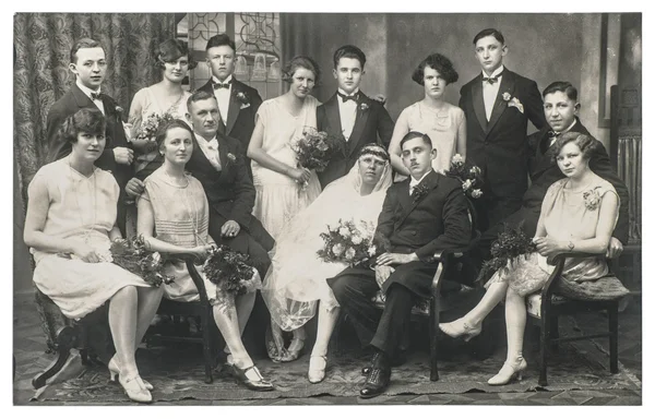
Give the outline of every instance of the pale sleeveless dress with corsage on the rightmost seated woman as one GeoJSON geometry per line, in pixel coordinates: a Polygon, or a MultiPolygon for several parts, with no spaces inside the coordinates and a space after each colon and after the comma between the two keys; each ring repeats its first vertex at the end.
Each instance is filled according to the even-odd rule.
{"type": "MultiPolygon", "coordinates": [[[[599,219],[599,208],[603,196],[616,190],[600,177],[594,179],[584,191],[568,191],[569,179],[560,179],[552,183],[541,204],[541,217],[548,237],[555,240],[585,240],[596,236],[599,219]]],[[[619,202],[620,205],[620,202],[619,202]]],[[[617,212],[618,219],[618,212],[617,212]]],[[[617,219],[614,220],[616,225],[617,219]]],[[[540,290],[555,266],[547,264],[546,258],[532,253],[519,258],[509,274],[496,273],[487,283],[509,280],[510,287],[521,296],[527,296],[540,290]]],[[[564,264],[562,280],[556,288],[557,294],[564,297],[584,300],[614,299],[629,291],[620,280],[609,273],[605,254],[597,258],[570,258],[564,264]]]]}

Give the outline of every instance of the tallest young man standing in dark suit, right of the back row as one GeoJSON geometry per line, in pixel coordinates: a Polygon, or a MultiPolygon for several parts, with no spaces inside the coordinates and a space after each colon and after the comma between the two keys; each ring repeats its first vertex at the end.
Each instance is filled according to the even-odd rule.
{"type": "Polygon", "coordinates": [[[485,177],[484,195],[476,200],[484,231],[521,207],[527,189],[527,121],[546,127],[537,84],[502,64],[508,46],[493,28],[477,34],[473,44],[483,71],[462,86],[460,108],[466,115],[466,158],[485,177]]]}

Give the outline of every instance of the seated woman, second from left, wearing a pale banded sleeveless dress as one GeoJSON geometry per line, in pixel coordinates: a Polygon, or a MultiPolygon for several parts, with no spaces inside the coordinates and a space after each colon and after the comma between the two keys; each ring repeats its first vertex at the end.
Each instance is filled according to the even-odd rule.
{"type": "MultiPolygon", "coordinates": [[[[136,229],[152,250],[170,254],[191,252],[201,259],[206,258],[207,251],[214,246],[207,231],[207,197],[200,181],[184,173],[195,142],[193,132],[184,121],[175,119],[159,127],[156,141],[164,163],[144,181],[145,190],[136,202],[136,229]]],[[[200,300],[182,261],[170,262],[166,268],[166,274],[175,278],[174,283],[164,286],[166,298],[177,301],[200,300]]],[[[204,278],[202,266],[198,266],[198,271],[204,278]]],[[[254,268],[252,278],[245,285],[250,295],[261,287],[254,268]]],[[[218,289],[207,279],[204,279],[204,286],[213,304],[216,326],[231,352],[228,364],[233,367],[235,376],[250,390],[273,390],[273,384],[262,378],[243,347],[234,295],[218,289]]]]}

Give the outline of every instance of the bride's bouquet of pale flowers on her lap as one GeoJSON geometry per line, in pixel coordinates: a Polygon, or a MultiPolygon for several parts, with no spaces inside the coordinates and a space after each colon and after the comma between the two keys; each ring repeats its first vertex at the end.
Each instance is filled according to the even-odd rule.
{"type": "Polygon", "coordinates": [[[374,230],[372,223],[360,222],[358,227],[353,220],[340,219],[337,226],[327,226],[327,231],[321,232],[324,246],[317,254],[325,262],[342,262],[349,266],[366,262],[377,253],[374,230]]]}

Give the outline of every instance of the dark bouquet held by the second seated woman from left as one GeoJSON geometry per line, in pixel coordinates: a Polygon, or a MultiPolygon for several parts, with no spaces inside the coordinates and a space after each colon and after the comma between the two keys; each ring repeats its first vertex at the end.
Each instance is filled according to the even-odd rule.
{"type": "Polygon", "coordinates": [[[210,250],[204,263],[204,274],[222,291],[240,296],[246,294],[254,274],[248,262],[248,255],[222,244],[210,250]]]}

